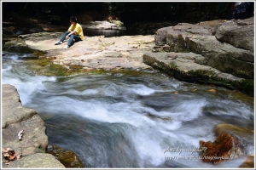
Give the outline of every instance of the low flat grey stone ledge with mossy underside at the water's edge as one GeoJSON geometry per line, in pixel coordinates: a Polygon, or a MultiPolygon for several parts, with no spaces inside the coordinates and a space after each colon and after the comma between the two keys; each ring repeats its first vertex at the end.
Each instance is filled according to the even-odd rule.
{"type": "Polygon", "coordinates": [[[201,54],[194,53],[154,53],[143,54],[143,62],[154,69],[163,71],[167,75],[185,82],[199,82],[214,84],[225,88],[238,89],[253,95],[253,80],[219,71],[209,65],[195,63],[196,59],[203,59],[201,54]]]}

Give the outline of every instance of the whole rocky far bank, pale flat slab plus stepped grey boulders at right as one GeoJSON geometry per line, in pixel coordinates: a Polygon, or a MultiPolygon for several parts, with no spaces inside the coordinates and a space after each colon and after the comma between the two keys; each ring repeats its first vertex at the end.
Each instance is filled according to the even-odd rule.
{"type": "Polygon", "coordinates": [[[3,50],[44,51],[39,59],[48,59],[48,64],[39,74],[47,74],[45,69],[55,65],[70,73],[154,68],[178,80],[223,86],[253,96],[253,26],[254,17],[180,23],[159,29],[155,35],[85,37],[67,49],[63,48],[67,42],[54,45],[62,32],[42,31],[5,42],[3,50]],[[236,41],[229,40],[231,34],[236,41]]]}

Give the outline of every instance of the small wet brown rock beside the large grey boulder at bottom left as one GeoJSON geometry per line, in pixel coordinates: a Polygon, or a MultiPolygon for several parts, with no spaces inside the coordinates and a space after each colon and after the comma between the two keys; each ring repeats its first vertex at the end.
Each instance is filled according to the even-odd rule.
{"type": "Polygon", "coordinates": [[[47,153],[55,156],[65,167],[84,167],[82,161],[72,150],[64,150],[60,146],[49,144],[47,153]]]}

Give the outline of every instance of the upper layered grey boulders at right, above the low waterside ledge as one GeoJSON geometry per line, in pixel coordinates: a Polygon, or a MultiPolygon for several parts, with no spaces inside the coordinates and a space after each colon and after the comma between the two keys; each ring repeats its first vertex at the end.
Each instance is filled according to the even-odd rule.
{"type": "Polygon", "coordinates": [[[220,34],[228,33],[218,26],[225,26],[224,23],[230,22],[217,20],[207,21],[206,23],[201,22],[196,25],[180,23],[177,26],[165,27],[156,31],[154,41],[156,45],[166,45],[168,48],[163,48],[166,52],[201,54],[204,58],[195,62],[212,66],[219,71],[230,73],[236,77],[253,79],[254,54],[252,38],[254,25],[237,26],[233,23],[230,29],[232,28],[232,31],[236,30],[236,33],[234,33],[236,34],[236,39],[232,40],[233,42],[219,41],[224,39],[220,34]],[[223,32],[220,33],[219,30],[223,32]],[[216,36],[213,35],[214,33],[216,36]],[[235,42],[236,44],[246,43],[248,47],[237,48],[241,47],[241,45],[236,45],[235,42]]]}

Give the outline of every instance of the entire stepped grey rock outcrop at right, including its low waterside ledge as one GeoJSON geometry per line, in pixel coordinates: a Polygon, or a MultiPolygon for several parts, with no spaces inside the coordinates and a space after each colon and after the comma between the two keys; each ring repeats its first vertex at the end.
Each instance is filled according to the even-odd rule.
{"type": "Polygon", "coordinates": [[[179,80],[220,85],[253,96],[253,19],[160,28],[154,35],[155,54],[143,54],[143,62],[179,80]],[[184,59],[185,55],[190,57],[184,59]]]}

